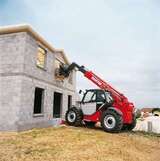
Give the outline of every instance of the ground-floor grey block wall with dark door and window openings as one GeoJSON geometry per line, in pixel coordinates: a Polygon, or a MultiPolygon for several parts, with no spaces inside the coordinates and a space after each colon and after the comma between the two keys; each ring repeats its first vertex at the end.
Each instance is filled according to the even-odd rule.
{"type": "Polygon", "coordinates": [[[74,104],[74,91],[66,91],[63,88],[56,87],[46,82],[39,81],[30,77],[23,76],[22,91],[21,91],[21,108],[19,112],[18,130],[26,130],[33,127],[46,127],[52,126],[53,122],[53,100],[54,92],[62,93],[62,111],[61,118],[64,119],[66,110],[68,109],[67,101],[68,95],[73,96],[74,104]],[[34,108],[34,91],[35,87],[43,88],[44,103],[42,114],[36,116],[33,114],[34,108]]]}

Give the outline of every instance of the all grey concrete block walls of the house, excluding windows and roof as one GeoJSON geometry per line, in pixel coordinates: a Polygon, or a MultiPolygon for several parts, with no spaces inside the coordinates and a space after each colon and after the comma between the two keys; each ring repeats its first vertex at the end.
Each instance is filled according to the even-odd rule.
{"type": "Polygon", "coordinates": [[[72,95],[72,103],[75,104],[75,72],[72,84],[68,80],[56,80],[56,53],[46,47],[46,68],[38,68],[39,45],[44,47],[28,32],[0,35],[0,131],[52,126],[54,92],[62,93],[62,119],[68,109],[68,95],[72,95]],[[44,111],[37,116],[33,115],[36,87],[45,90],[44,111]]]}

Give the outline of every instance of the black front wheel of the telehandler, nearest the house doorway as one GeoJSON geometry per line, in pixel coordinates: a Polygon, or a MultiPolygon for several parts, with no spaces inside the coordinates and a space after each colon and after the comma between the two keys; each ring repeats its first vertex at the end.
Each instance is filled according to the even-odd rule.
{"type": "Polygon", "coordinates": [[[83,113],[81,109],[77,109],[76,107],[70,108],[65,115],[66,123],[71,126],[81,126],[83,113]]]}

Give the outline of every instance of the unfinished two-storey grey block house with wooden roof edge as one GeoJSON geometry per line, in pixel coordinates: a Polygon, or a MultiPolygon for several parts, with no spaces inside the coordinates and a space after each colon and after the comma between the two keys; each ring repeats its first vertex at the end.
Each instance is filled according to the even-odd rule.
{"type": "Polygon", "coordinates": [[[0,28],[0,131],[57,125],[75,104],[76,73],[55,76],[63,50],[53,48],[30,26],[0,28]]]}

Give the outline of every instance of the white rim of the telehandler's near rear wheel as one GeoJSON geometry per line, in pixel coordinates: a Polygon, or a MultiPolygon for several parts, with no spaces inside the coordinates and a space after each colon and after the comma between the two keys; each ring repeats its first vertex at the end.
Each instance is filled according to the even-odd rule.
{"type": "Polygon", "coordinates": [[[108,129],[113,129],[116,125],[116,119],[112,115],[107,115],[104,118],[104,125],[108,129]]]}

